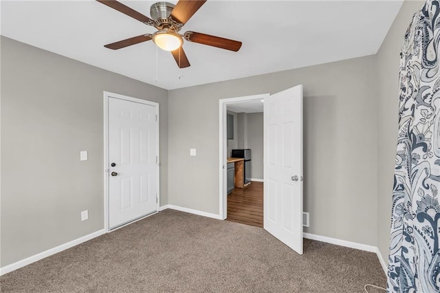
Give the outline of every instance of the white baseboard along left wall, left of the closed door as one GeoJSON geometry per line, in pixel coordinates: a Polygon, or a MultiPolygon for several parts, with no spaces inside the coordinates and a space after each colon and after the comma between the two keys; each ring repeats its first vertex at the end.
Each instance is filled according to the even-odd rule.
{"type": "Polygon", "coordinates": [[[89,235],[85,235],[83,237],[74,239],[72,241],[69,241],[67,243],[61,244],[60,246],[56,246],[54,248],[50,248],[48,250],[45,250],[43,252],[40,252],[38,254],[32,255],[32,257],[27,257],[25,259],[22,259],[21,261],[17,261],[16,263],[11,263],[10,265],[5,265],[3,268],[0,268],[0,276],[3,274],[8,274],[8,272],[12,272],[13,270],[17,270],[19,268],[23,268],[25,265],[29,265],[31,263],[34,263],[35,261],[39,261],[40,259],[44,259],[45,257],[50,257],[52,254],[56,254],[58,252],[61,252],[63,250],[66,250],[68,248],[71,248],[73,246],[76,246],[80,243],[83,243],[85,241],[89,241],[90,239],[94,239],[100,235],[105,234],[105,230],[98,230],[96,232],[93,232],[89,235]]]}

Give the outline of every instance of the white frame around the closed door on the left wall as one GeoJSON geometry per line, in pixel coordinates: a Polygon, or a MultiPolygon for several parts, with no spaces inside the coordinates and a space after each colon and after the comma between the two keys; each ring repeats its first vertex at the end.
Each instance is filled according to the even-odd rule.
{"type": "MultiPolygon", "coordinates": [[[[118,98],[120,100],[126,100],[129,102],[137,102],[144,105],[150,105],[155,107],[156,109],[156,117],[157,117],[157,124],[156,124],[156,150],[157,150],[157,162],[156,162],[156,185],[157,185],[157,203],[156,203],[156,213],[159,211],[160,206],[160,172],[159,172],[159,162],[160,162],[160,155],[159,155],[159,103],[158,102],[152,102],[149,100],[142,100],[140,98],[133,98],[130,96],[124,96],[121,94],[115,94],[111,93],[109,91],[104,91],[104,231],[105,232],[111,232],[114,230],[117,230],[119,228],[122,228],[126,225],[129,225],[135,221],[139,221],[140,219],[144,219],[144,217],[141,217],[140,219],[135,219],[134,221],[131,221],[127,224],[124,224],[122,226],[119,226],[118,228],[115,228],[113,230],[110,230],[109,227],[109,98],[118,98]]],[[[145,217],[148,217],[150,215],[154,215],[155,213],[151,213],[149,215],[146,215],[145,217]]]]}

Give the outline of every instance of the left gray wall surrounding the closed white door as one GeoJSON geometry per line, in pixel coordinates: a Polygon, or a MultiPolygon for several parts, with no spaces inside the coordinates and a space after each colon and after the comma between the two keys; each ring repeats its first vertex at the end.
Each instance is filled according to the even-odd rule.
{"type": "Polygon", "coordinates": [[[102,91],[159,102],[167,204],[167,91],[1,37],[1,266],[104,228],[102,91]]]}

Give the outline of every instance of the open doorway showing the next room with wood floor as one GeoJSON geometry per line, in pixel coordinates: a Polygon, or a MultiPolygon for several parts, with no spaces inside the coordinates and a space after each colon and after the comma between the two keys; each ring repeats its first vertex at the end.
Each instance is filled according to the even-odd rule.
{"type": "Polygon", "coordinates": [[[226,220],[261,228],[263,228],[263,101],[263,99],[247,100],[226,105],[228,129],[226,220]],[[241,177],[243,184],[239,180],[241,177]]]}

